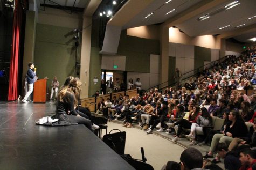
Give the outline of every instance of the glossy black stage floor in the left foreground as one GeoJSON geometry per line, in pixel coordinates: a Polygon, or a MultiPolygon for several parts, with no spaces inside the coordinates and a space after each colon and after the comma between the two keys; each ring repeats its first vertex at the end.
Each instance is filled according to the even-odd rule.
{"type": "Polygon", "coordinates": [[[55,108],[0,102],[1,169],[134,169],[84,125],[35,124],[55,108]]]}

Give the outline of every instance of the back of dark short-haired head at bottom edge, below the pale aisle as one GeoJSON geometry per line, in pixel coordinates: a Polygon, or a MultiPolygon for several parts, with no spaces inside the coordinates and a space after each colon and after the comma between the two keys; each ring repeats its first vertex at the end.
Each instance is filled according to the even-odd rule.
{"type": "Polygon", "coordinates": [[[181,161],[181,170],[200,170],[203,167],[202,153],[193,147],[185,149],[179,160],[181,161]]]}

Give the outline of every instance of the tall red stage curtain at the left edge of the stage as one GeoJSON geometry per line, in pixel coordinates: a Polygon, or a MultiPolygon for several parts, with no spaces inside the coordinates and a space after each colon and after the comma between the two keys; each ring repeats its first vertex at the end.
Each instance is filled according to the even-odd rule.
{"type": "Polygon", "coordinates": [[[10,61],[10,77],[9,77],[9,92],[8,100],[18,99],[18,64],[19,64],[19,39],[20,29],[22,27],[22,5],[20,0],[15,1],[15,11],[13,16],[13,32],[12,32],[12,47],[10,61]]]}

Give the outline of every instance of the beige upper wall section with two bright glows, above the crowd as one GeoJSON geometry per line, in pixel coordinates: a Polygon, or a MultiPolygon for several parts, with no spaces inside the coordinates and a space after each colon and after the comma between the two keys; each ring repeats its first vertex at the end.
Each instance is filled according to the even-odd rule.
{"type": "Polygon", "coordinates": [[[169,28],[169,42],[218,49],[216,48],[216,38],[213,35],[190,37],[180,32],[177,28],[172,27],[169,28]]]}

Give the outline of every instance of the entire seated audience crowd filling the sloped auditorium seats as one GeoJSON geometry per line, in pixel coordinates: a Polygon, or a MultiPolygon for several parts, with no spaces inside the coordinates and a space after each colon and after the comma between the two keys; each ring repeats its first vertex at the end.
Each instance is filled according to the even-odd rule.
{"type": "Polygon", "coordinates": [[[256,94],[248,96],[245,92],[253,90],[256,83],[255,65],[254,50],[240,57],[226,56],[213,68],[206,68],[195,80],[189,79],[184,86],[170,87],[163,92],[156,88],[141,96],[114,96],[112,101],[107,99],[106,102],[102,99],[98,113],[109,120],[122,119],[126,128],[131,128],[133,121],[139,122],[147,134],[154,129],[158,132],[165,129],[174,136],[173,142],[184,136],[190,139],[190,145],[209,144],[210,150],[204,158],[215,158],[213,163],[225,158],[226,169],[248,169],[256,158],[253,150],[256,146],[256,94]],[[224,119],[220,131],[212,129],[213,116],[224,119]],[[168,122],[167,127],[165,122],[168,122]],[[184,129],[190,129],[190,133],[184,129]],[[228,156],[236,159],[232,162],[228,156]]]}

